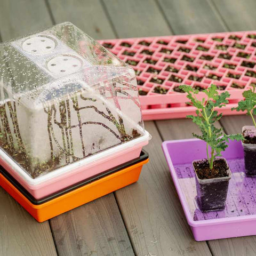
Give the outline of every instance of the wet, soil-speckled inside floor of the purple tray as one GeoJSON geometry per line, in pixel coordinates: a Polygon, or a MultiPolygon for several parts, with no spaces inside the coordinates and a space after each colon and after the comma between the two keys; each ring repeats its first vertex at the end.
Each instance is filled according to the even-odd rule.
{"type": "Polygon", "coordinates": [[[197,220],[219,219],[256,214],[256,179],[246,177],[244,159],[228,159],[232,172],[226,207],[222,211],[201,212],[196,204],[196,182],[192,164],[174,165],[191,217],[197,220]]]}

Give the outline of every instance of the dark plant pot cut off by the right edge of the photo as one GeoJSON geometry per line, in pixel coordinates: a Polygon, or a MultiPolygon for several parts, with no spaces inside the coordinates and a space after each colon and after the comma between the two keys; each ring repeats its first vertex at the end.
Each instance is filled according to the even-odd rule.
{"type": "MultiPolygon", "coordinates": [[[[242,133],[245,130],[256,130],[254,126],[246,125],[242,129],[242,133]]],[[[245,174],[250,177],[256,177],[256,144],[243,143],[244,148],[244,164],[245,164],[245,174]]]]}

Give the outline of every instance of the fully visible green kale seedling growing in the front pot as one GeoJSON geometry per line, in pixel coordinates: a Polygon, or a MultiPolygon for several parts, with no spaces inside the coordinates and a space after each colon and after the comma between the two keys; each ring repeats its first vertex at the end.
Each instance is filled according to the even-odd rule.
{"type": "Polygon", "coordinates": [[[196,94],[199,93],[198,90],[188,85],[180,85],[179,87],[188,93],[187,98],[190,100],[188,104],[196,107],[196,115],[189,115],[187,118],[192,119],[202,132],[202,135],[193,133],[193,136],[206,142],[206,154],[210,169],[212,170],[215,158],[221,156],[221,152],[225,151],[228,147],[228,139],[243,139],[241,134],[227,135],[221,128],[218,129],[214,126],[214,123],[222,117],[222,114],[218,114],[218,111],[214,109],[215,107],[221,108],[226,106],[228,103],[227,98],[230,97],[230,94],[227,91],[218,94],[217,86],[212,84],[211,87],[203,90],[206,98],[199,100],[196,97],[196,94]],[[211,153],[209,153],[209,148],[211,149],[211,153]]]}

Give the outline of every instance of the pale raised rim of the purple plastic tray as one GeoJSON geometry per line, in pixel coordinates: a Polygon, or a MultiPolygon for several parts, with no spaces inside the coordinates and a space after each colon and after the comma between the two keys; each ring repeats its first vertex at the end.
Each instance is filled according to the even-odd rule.
{"type": "Polygon", "coordinates": [[[169,155],[169,151],[167,146],[173,143],[177,143],[177,142],[189,142],[189,141],[199,141],[199,139],[182,139],[182,140],[168,140],[168,141],[164,141],[162,143],[162,149],[164,152],[164,156],[167,162],[167,165],[169,166],[170,169],[170,173],[172,176],[172,180],[174,183],[174,186],[177,190],[179,199],[180,199],[180,203],[182,206],[182,209],[185,213],[187,222],[189,224],[189,226],[191,227],[203,227],[203,226],[214,226],[214,225],[223,225],[223,224],[231,224],[231,223],[236,223],[236,222],[244,222],[244,221],[251,221],[251,220],[256,220],[256,214],[253,215],[244,215],[244,216],[239,216],[239,217],[229,217],[229,218],[220,218],[220,219],[211,219],[211,220],[193,220],[193,218],[191,217],[190,211],[188,209],[187,203],[186,203],[186,198],[180,188],[179,185],[179,181],[178,181],[178,177],[177,174],[175,172],[174,166],[172,164],[172,160],[171,157],[169,155]]]}

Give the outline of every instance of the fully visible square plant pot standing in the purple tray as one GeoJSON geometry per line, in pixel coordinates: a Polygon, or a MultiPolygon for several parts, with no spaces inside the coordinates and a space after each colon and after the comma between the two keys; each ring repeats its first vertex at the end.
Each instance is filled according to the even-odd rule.
{"type": "MultiPolygon", "coordinates": [[[[228,165],[225,158],[226,164],[228,165]]],[[[193,162],[197,163],[201,160],[196,160],[193,162]]],[[[195,171],[195,168],[194,168],[195,171]]],[[[231,179],[230,168],[227,170],[228,176],[222,178],[213,179],[199,179],[195,171],[196,180],[196,191],[197,191],[197,204],[201,211],[220,211],[225,209],[226,199],[228,194],[229,180],[231,179]]]]}

